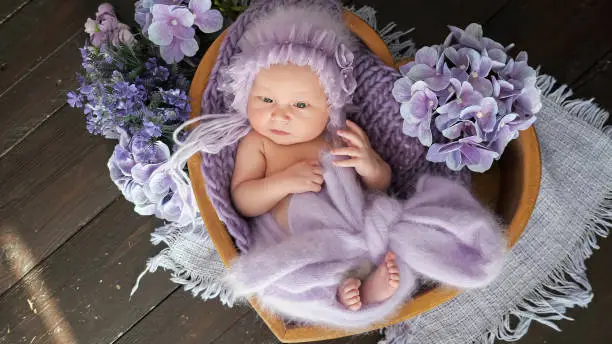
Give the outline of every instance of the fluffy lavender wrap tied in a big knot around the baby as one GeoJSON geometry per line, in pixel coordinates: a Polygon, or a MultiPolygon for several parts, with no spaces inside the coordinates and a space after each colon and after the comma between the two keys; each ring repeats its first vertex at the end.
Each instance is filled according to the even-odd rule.
{"type": "Polygon", "coordinates": [[[397,200],[365,192],[354,169],[324,155],[325,187],[292,196],[290,232],[265,214],[253,221],[253,246],[227,281],[239,296],[287,318],[343,329],[380,322],[409,298],[419,278],[460,288],[488,284],[499,272],[504,240],[495,218],[463,186],[424,175],[414,195],[397,200]],[[340,282],[363,263],[396,253],[400,286],[387,301],[357,312],[337,300],[340,282]]]}

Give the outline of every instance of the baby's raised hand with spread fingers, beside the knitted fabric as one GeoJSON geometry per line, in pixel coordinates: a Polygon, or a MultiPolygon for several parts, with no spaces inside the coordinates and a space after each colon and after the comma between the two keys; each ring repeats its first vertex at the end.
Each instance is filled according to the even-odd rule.
{"type": "Polygon", "coordinates": [[[332,150],[334,155],[346,155],[350,159],[334,161],[336,166],[354,167],[364,179],[378,179],[386,163],[374,151],[366,133],[351,121],[346,121],[347,129],[338,130],[338,135],[344,139],[348,147],[332,150]]]}

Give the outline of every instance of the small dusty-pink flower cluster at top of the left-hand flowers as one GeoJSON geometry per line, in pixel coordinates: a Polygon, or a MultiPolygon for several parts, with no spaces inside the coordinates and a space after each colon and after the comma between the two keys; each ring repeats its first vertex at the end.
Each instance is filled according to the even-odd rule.
{"type": "Polygon", "coordinates": [[[108,3],[98,6],[95,20],[87,18],[85,32],[89,34],[91,44],[98,48],[109,42],[114,46],[133,46],[136,42],[130,27],[117,20],[113,6],[108,3]]]}

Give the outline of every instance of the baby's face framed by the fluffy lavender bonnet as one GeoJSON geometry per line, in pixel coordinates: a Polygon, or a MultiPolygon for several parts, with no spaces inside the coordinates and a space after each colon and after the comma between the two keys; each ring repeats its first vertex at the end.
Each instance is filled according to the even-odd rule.
{"type": "Polygon", "coordinates": [[[251,127],[280,145],[313,140],[327,126],[327,97],[308,66],[272,65],[253,82],[247,103],[251,127]]]}

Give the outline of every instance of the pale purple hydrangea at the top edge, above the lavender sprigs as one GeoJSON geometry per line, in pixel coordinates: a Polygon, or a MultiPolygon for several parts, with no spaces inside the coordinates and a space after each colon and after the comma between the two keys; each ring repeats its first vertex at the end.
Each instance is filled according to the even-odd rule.
{"type": "Polygon", "coordinates": [[[204,33],[222,28],[223,16],[211,5],[211,0],[139,0],[135,19],[164,61],[176,63],[198,51],[194,25],[204,33]]]}

